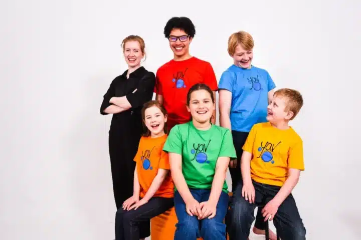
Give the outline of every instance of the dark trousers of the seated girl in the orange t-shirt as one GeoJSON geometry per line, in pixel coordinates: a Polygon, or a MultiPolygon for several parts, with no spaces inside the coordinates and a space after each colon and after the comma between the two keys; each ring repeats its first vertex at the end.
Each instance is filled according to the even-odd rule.
{"type": "Polygon", "coordinates": [[[136,210],[123,210],[120,207],[115,214],[115,240],[139,240],[147,237],[140,235],[140,228],[150,227],[150,218],[157,216],[174,206],[173,197],[152,197],[136,210]]]}

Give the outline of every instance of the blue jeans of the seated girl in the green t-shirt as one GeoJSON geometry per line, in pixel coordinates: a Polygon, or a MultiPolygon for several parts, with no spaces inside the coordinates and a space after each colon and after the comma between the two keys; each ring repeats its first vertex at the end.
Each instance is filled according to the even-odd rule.
{"type": "MultiPolygon", "coordinates": [[[[208,201],[211,189],[190,188],[193,197],[200,203],[208,201]]],[[[203,237],[204,240],[226,239],[226,224],[223,223],[228,209],[229,196],[222,191],[217,203],[216,216],[198,220],[197,216],[189,215],[186,211],[186,203],[178,191],[174,193],[174,207],[178,218],[174,240],[196,240],[203,237]]]]}

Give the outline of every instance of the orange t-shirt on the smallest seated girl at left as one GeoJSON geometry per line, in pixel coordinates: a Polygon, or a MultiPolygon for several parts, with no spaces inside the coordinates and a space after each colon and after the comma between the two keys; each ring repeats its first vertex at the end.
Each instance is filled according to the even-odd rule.
{"type": "MultiPolygon", "coordinates": [[[[166,138],[166,134],[154,138],[150,136],[140,138],[138,151],[134,157],[140,185],[140,197],[144,197],[148,191],[159,168],[170,169],[168,153],[163,151],[166,138]]],[[[154,196],[173,197],[173,192],[174,185],[169,171],[154,196]]]]}

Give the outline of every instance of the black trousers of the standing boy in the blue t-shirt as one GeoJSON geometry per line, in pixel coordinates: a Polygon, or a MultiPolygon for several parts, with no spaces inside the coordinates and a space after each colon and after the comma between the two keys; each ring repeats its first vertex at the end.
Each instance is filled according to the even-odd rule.
{"type": "MultiPolygon", "coordinates": [[[[244,131],[235,131],[232,130],[232,137],[233,137],[233,144],[236,148],[237,154],[237,165],[235,168],[229,168],[231,178],[232,178],[232,192],[236,190],[237,185],[242,181],[242,173],[241,173],[241,156],[243,153],[242,147],[246,142],[249,132],[244,131]]],[[[266,229],[266,223],[263,221],[262,211],[263,208],[258,207],[257,215],[256,215],[256,222],[255,226],[258,229],[266,229]]]]}

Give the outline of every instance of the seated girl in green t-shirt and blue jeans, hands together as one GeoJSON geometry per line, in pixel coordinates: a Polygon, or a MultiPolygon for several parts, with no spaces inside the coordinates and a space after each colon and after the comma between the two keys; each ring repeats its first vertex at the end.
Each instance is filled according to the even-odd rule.
{"type": "Polygon", "coordinates": [[[192,120],[175,125],[163,147],[175,185],[175,240],[226,239],[226,173],[236,150],[230,130],[210,122],[215,107],[209,86],[192,86],[187,95],[192,120]]]}

